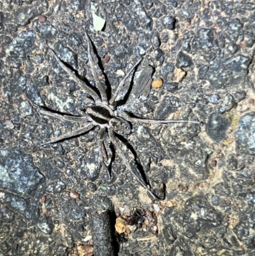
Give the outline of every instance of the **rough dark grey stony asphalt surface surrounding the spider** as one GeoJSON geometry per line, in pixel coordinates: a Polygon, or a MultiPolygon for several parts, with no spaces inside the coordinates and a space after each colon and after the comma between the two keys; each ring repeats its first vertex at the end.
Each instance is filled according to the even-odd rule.
{"type": "Polygon", "coordinates": [[[157,239],[136,241],[151,235],[138,230],[118,255],[255,255],[254,13],[252,0],[0,1],[0,255],[79,255],[92,213],[149,207],[117,153],[108,183],[96,130],[37,146],[78,124],[34,104],[79,115],[90,102],[48,51],[93,85],[84,31],[109,92],[139,57],[134,87],[146,64],[164,80],[123,109],[205,123],[133,125],[129,147],[169,207],[157,239]],[[106,20],[102,32],[92,12],[106,20]]]}

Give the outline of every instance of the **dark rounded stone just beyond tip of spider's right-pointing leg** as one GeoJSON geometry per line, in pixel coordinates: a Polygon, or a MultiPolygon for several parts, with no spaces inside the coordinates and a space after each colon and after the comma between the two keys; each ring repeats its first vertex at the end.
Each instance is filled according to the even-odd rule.
{"type": "Polygon", "coordinates": [[[216,142],[226,139],[226,131],[230,127],[230,121],[225,119],[219,113],[212,113],[208,118],[208,123],[206,124],[207,134],[211,139],[216,142]]]}

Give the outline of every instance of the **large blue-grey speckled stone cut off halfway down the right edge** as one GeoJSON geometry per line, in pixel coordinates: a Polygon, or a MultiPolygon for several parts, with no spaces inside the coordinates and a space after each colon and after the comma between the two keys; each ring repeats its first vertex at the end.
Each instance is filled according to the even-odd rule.
{"type": "Polygon", "coordinates": [[[240,118],[235,136],[238,151],[255,155],[255,112],[240,118]]]}

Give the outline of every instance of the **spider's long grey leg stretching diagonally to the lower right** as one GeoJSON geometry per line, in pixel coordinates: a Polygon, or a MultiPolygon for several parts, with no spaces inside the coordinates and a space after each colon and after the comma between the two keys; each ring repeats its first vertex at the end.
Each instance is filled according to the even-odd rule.
{"type": "Polygon", "coordinates": [[[129,172],[136,178],[136,180],[143,186],[143,188],[145,188],[145,190],[147,190],[147,192],[150,193],[150,195],[153,197],[154,200],[158,200],[158,198],[156,197],[156,195],[154,195],[154,193],[152,193],[149,188],[147,188],[145,182],[137,175],[135,174],[135,172],[133,171],[130,163],[128,162],[128,159],[126,158],[126,156],[124,156],[124,153],[122,152],[122,150],[120,149],[120,146],[117,142],[117,138],[115,137],[115,132],[113,131],[112,128],[108,128],[109,131],[109,137],[110,140],[112,141],[112,144],[115,146],[115,148],[117,149],[120,157],[122,158],[122,161],[124,163],[124,165],[126,166],[126,168],[129,170],[129,172]]]}

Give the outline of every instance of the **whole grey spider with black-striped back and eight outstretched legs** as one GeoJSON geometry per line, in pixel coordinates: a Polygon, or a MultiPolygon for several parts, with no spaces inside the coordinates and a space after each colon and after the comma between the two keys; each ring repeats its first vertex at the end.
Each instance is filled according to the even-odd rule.
{"type": "Polygon", "coordinates": [[[106,164],[107,161],[107,154],[106,149],[104,146],[104,139],[105,139],[105,133],[108,133],[108,137],[110,138],[110,141],[112,142],[113,146],[119,153],[120,158],[122,159],[124,165],[126,166],[126,169],[129,170],[129,172],[135,177],[136,181],[140,183],[147,192],[151,195],[151,197],[154,200],[158,200],[156,195],[152,193],[150,188],[147,186],[147,183],[143,180],[142,175],[136,174],[136,172],[131,167],[131,164],[129,163],[128,159],[124,155],[124,152],[119,146],[119,140],[115,133],[119,134],[120,136],[129,135],[131,133],[131,124],[132,122],[135,123],[145,123],[145,124],[168,124],[168,123],[195,123],[200,124],[199,121],[188,121],[188,120],[155,120],[155,119],[140,119],[129,116],[128,112],[120,111],[118,110],[118,104],[116,101],[117,96],[120,93],[120,90],[122,87],[124,87],[124,84],[126,82],[126,79],[128,79],[129,75],[133,70],[135,70],[136,66],[142,61],[142,59],[139,59],[135,65],[129,70],[127,75],[122,79],[119,86],[117,86],[117,89],[115,90],[115,93],[113,93],[112,97],[108,99],[105,87],[101,84],[98,74],[96,72],[96,67],[93,63],[92,56],[91,56],[91,43],[89,41],[89,36],[87,36],[87,33],[85,33],[85,38],[87,40],[87,52],[89,57],[89,64],[91,66],[92,70],[92,76],[94,77],[94,80],[96,82],[96,88],[98,91],[94,90],[94,88],[87,86],[84,81],[78,79],[78,77],[73,73],[66,64],[64,64],[59,57],[55,54],[54,50],[50,49],[50,52],[55,57],[57,63],[61,68],[68,73],[69,77],[74,80],[78,86],[80,86],[82,89],[84,89],[85,93],[89,94],[93,102],[85,109],[84,112],[82,112],[82,116],[72,116],[62,113],[57,113],[56,111],[50,112],[48,110],[45,110],[41,107],[39,107],[39,111],[41,114],[44,114],[46,116],[54,117],[56,119],[60,119],[62,121],[70,121],[70,122],[77,122],[77,123],[85,123],[82,128],[79,128],[77,130],[73,130],[72,132],[65,133],[64,135],[61,135],[59,137],[56,137],[54,139],[48,140],[47,142],[44,142],[43,144],[40,144],[40,146],[43,146],[45,144],[55,143],[60,140],[64,139],[70,139],[71,137],[82,135],[86,132],[89,132],[94,127],[99,126],[99,132],[97,135],[97,142],[98,142],[98,148],[99,148],[99,161],[101,163],[101,167],[108,172],[109,179],[111,179],[111,174],[108,170],[108,166],[106,164]]]}

